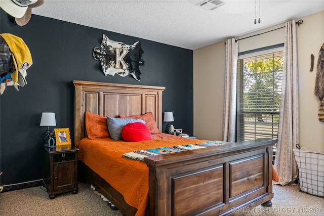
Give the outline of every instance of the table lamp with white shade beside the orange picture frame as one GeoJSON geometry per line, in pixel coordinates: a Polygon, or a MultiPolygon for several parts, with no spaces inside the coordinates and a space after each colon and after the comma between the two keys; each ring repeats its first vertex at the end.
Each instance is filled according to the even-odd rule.
{"type": "Polygon", "coordinates": [[[47,126],[46,134],[44,135],[45,146],[51,147],[55,145],[54,132],[50,132],[50,126],[56,126],[55,113],[54,112],[43,112],[41,123],[39,126],[47,126]]]}

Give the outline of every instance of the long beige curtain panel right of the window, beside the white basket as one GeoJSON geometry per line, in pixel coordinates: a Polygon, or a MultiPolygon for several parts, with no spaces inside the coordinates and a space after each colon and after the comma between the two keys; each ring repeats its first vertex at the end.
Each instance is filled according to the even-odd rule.
{"type": "MultiPolygon", "coordinates": [[[[299,142],[299,102],[297,36],[295,20],[286,23],[284,71],[279,113],[278,143],[275,170],[279,177],[276,184],[287,185],[297,178],[293,149],[299,142]]],[[[273,182],[275,183],[275,182],[273,182]]]]}

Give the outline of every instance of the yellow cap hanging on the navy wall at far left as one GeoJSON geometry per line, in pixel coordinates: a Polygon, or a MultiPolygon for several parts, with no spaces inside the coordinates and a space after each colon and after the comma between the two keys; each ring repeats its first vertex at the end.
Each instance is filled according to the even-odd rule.
{"type": "Polygon", "coordinates": [[[30,51],[22,38],[10,33],[2,33],[0,36],[4,38],[12,54],[15,71],[10,74],[11,78],[23,87],[27,84],[27,69],[32,65],[30,51]]]}

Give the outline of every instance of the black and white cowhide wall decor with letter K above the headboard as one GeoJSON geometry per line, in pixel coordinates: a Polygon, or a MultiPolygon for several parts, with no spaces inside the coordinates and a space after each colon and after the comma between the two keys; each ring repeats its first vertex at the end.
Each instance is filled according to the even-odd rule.
{"type": "Polygon", "coordinates": [[[133,45],[126,45],[123,42],[110,40],[103,34],[101,47],[95,47],[92,55],[95,60],[101,61],[105,76],[132,75],[137,81],[140,81],[140,66],[144,65],[144,61],[141,59],[143,53],[139,41],[133,45]]]}

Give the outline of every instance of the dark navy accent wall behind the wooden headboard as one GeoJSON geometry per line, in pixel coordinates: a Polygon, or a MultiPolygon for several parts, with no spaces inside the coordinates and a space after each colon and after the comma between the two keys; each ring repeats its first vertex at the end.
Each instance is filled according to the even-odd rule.
{"type": "Polygon", "coordinates": [[[163,112],[173,111],[174,126],[192,135],[192,50],[37,15],[32,15],[25,26],[10,27],[2,10],[0,31],[21,37],[33,60],[27,70],[28,83],[19,92],[8,87],[0,96],[2,186],[43,179],[42,136],[46,127],[39,126],[42,112],[55,112],[56,127],[69,127],[73,142],[71,80],[166,87],[163,112]],[[145,61],[141,81],[132,76],[104,76],[100,61],[92,56],[94,47],[101,44],[102,34],[130,45],[141,41],[145,61]]]}

